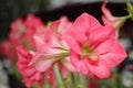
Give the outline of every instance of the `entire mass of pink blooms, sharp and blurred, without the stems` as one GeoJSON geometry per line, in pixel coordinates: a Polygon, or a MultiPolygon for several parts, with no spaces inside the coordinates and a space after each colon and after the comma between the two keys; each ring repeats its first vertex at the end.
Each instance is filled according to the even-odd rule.
{"type": "Polygon", "coordinates": [[[58,64],[63,78],[69,73],[101,79],[110,77],[111,68],[119,65],[126,53],[116,38],[115,22],[105,20],[109,11],[104,6],[105,25],[85,12],[74,22],[62,16],[45,25],[30,14],[24,22],[18,19],[11,24],[9,40],[2,43],[2,52],[9,58],[18,54],[17,66],[27,87],[49,81],[55,88],[54,64],[58,64]]]}

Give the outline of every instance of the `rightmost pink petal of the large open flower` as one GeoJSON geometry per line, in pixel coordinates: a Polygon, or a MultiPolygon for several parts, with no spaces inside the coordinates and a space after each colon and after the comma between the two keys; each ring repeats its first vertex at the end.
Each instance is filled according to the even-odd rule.
{"type": "Polygon", "coordinates": [[[108,67],[114,67],[122,63],[126,57],[125,50],[117,41],[112,42],[109,52],[101,55],[100,64],[106,64],[108,67]]]}

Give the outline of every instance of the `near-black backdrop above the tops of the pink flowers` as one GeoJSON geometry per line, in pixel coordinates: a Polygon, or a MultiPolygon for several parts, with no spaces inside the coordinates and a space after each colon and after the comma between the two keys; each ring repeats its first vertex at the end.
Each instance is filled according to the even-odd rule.
{"type": "MultiPolygon", "coordinates": [[[[35,2],[35,0],[33,0],[34,2],[25,0],[13,1],[1,0],[0,2],[0,41],[8,36],[8,33],[10,32],[10,23],[13,20],[17,18],[24,19],[29,13],[33,13],[34,15],[41,18],[43,22],[48,22],[50,20],[57,20],[61,15],[68,15],[71,21],[74,21],[82,12],[88,12],[102,23],[101,6],[103,2],[68,4],[59,9],[47,10],[49,0],[39,0],[38,2],[35,2]]],[[[109,2],[106,7],[111,10],[113,15],[120,16],[127,14],[125,3],[109,2]]],[[[126,31],[124,31],[124,35],[133,37],[132,21],[129,20],[122,29],[126,29],[126,31]]]]}

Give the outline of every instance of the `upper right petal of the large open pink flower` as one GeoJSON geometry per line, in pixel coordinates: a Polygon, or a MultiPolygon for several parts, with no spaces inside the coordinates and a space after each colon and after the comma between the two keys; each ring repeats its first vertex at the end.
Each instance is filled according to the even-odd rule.
{"type": "Polygon", "coordinates": [[[111,38],[115,37],[115,30],[110,26],[100,26],[96,30],[92,31],[89,35],[89,45],[94,48],[96,47],[100,43],[111,38]]]}

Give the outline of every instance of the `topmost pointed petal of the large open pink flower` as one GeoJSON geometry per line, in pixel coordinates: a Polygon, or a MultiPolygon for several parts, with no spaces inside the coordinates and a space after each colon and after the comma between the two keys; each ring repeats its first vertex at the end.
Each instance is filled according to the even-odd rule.
{"type": "Polygon", "coordinates": [[[73,23],[72,29],[76,29],[79,33],[91,31],[101,26],[100,22],[88,13],[82,13],[73,23]],[[82,30],[81,30],[82,29],[82,30]]]}

